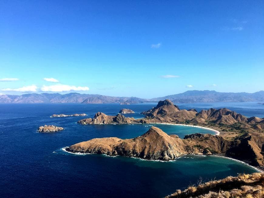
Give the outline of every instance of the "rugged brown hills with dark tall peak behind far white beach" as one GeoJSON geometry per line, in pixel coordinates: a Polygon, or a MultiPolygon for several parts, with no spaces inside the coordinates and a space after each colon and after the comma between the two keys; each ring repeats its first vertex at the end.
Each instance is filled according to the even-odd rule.
{"type": "Polygon", "coordinates": [[[166,99],[159,101],[157,106],[142,112],[147,116],[148,122],[186,122],[190,124],[206,124],[212,122],[215,124],[232,125],[235,123],[244,123],[248,125],[264,124],[263,118],[251,117],[247,118],[242,114],[231,111],[227,108],[201,110],[197,113],[196,110],[180,110],[172,101],[166,99]]]}

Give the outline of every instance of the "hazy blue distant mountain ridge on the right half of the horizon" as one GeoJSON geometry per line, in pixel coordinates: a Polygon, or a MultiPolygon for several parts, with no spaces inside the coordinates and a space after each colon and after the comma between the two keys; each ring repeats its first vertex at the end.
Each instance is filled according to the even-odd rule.
{"type": "Polygon", "coordinates": [[[152,98],[151,101],[160,101],[165,99],[170,99],[171,101],[176,103],[264,101],[264,91],[258,91],[251,94],[245,92],[225,93],[209,90],[191,90],[181,94],[152,98]]]}

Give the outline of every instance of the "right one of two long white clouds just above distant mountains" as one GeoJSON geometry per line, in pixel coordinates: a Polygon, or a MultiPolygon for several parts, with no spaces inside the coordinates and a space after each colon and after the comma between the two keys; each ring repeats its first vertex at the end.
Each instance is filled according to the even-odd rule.
{"type": "Polygon", "coordinates": [[[66,84],[56,84],[56,85],[50,85],[46,86],[43,85],[41,87],[42,91],[46,92],[63,92],[63,91],[88,91],[89,87],[76,87],[66,84]]]}

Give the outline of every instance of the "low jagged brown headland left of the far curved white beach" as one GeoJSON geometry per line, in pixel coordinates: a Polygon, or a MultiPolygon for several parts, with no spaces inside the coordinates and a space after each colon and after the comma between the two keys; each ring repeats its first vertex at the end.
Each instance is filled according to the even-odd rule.
{"type": "Polygon", "coordinates": [[[128,124],[128,123],[147,123],[142,119],[135,120],[134,118],[125,117],[122,114],[117,114],[116,116],[106,115],[102,112],[97,112],[94,118],[86,118],[77,121],[77,123],[82,125],[91,125],[91,124],[128,124]]]}

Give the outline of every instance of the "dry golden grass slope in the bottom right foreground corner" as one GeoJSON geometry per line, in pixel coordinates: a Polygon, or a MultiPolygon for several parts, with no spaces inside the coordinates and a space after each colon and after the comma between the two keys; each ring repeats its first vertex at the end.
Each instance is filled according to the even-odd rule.
{"type": "Polygon", "coordinates": [[[189,186],[167,197],[198,197],[198,198],[263,198],[264,197],[264,173],[242,174],[237,177],[226,177],[200,184],[189,186]]]}

